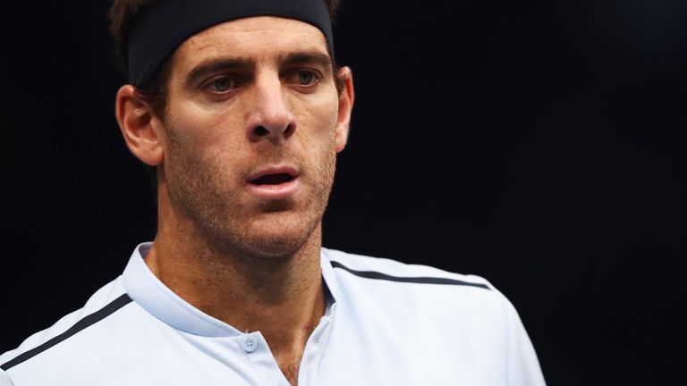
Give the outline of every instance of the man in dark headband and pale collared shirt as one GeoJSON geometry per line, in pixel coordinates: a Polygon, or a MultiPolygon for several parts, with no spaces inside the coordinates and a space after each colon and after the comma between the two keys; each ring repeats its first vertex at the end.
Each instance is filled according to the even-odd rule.
{"type": "Polygon", "coordinates": [[[158,229],[0,385],[540,385],[487,281],[322,248],[352,72],[331,0],[115,0],[116,117],[158,229]],[[142,3],[142,5],[141,5],[142,3]]]}

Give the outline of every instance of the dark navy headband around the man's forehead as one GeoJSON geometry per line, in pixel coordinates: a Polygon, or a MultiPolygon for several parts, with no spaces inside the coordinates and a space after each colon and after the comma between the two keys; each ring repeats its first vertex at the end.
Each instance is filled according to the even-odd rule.
{"type": "Polygon", "coordinates": [[[144,5],[131,23],[129,82],[146,87],[187,38],[224,21],[250,16],[279,16],[312,24],[325,35],[329,53],[334,55],[325,0],[159,0],[144,5]]]}

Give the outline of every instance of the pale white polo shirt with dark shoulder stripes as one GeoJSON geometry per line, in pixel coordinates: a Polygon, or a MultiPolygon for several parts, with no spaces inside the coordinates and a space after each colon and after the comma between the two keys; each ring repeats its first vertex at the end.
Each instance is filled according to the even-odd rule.
{"type": "MultiPolygon", "coordinates": [[[[143,261],[0,356],[0,386],[288,385],[259,331],[179,298],[143,261]]],[[[323,248],[327,313],[299,385],[544,385],[511,303],[488,281],[323,248]]]]}

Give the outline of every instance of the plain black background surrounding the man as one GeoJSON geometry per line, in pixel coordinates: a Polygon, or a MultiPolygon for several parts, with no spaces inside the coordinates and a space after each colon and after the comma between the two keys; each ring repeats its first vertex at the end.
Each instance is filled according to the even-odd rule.
{"type": "MultiPolygon", "coordinates": [[[[114,121],[107,7],[0,10],[0,352],[154,236],[114,121]]],[[[676,0],[344,2],[337,60],[357,101],[325,245],[488,278],[549,384],[674,384],[685,16],[676,0]]]]}

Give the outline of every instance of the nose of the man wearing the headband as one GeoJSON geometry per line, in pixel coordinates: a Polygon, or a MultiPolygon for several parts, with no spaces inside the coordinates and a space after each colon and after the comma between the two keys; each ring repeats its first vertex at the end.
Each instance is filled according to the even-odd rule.
{"type": "Polygon", "coordinates": [[[278,76],[263,76],[255,80],[252,96],[247,133],[251,142],[279,141],[293,136],[296,122],[278,76]]]}

